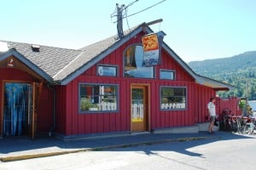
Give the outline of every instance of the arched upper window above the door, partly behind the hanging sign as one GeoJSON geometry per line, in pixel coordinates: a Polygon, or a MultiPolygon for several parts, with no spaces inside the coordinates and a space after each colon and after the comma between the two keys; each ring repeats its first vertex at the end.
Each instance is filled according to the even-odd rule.
{"type": "Polygon", "coordinates": [[[125,77],[154,78],[154,66],[143,63],[143,46],[133,45],[125,50],[125,77]]]}

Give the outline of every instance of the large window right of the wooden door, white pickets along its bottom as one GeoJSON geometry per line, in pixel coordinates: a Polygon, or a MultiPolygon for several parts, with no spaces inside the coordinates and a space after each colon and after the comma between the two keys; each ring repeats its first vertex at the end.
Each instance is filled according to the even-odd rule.
{"type": "Polygon", "coordinates": [[[161,87],[160,93],[161,110],[186,109],[187,88],[161,87]]]}

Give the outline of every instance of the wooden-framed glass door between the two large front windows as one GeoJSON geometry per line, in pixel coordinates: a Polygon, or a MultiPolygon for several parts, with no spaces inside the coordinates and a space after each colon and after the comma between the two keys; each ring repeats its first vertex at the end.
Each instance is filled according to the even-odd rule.
{"type": "Polygon", "coordinates": [[[131,86],[131,132],[149,129],[148,85],[131,86]]]}

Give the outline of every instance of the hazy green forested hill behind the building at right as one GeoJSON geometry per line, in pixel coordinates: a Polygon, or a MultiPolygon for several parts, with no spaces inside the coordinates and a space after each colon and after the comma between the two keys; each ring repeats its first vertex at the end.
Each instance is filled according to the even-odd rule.
{"type": "Polygon", "coordinates": [[[223,59],[191,61],[189,66],[199,75],[234,85],[235,90],[219,93],[256,99],[256,51],[223,59]]]}

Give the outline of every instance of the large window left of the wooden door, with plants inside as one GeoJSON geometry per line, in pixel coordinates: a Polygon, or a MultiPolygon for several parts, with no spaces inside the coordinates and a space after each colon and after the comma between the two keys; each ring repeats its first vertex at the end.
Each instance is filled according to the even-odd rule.
{"type": "Polygon", "coordinates": [[[116,85],[79,85],[79,111],[117,111],[118,87],[116,85]]]}

